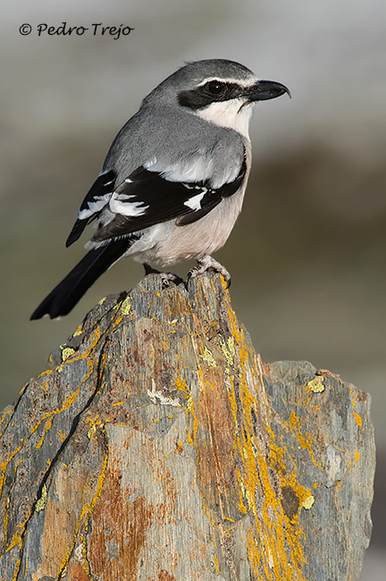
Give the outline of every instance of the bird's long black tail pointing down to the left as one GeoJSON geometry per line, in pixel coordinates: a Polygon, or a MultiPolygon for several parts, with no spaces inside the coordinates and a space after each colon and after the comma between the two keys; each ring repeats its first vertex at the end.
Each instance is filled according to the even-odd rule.
{"type": "Polygon", "coordinates": [[[130,248],[132,240],[113,240],[100,248],[90,250],[71,270],[71,273],[52,290],[32,313],[30,319],[49,315],[52,319],[70,313],[96,279],[130,248]]]}

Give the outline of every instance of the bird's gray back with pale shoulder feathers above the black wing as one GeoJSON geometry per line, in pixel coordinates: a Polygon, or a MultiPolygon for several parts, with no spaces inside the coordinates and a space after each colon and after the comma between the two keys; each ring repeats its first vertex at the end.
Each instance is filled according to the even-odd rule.
{"type": "Polygon", "coordinates": [[[158,171],[201,158],[204,166],[207,160],[207,175],[201,179],[211,178],[217,186],[236,177],[247,146],[237,131],[206,122],[182,107],[144,104],[113,140],[104,169],[113,169],[120,183],[144,164],[156,162],[158,171]]]}

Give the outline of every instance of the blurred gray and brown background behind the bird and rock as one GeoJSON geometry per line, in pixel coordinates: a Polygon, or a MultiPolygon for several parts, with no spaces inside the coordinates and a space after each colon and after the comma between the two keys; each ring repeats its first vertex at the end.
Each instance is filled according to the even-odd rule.
{"type": "Polygon", "coordinates": [[[1,408],[99,299],[143,275],[121,261],[70,316],[29,322],[83,256],[64,242],[117,131],[184,61],[239,61],[293,98],[256,107],[244,211],[216,258],[265,361],[307,359],[372,394],[372,581],[386,567],[385,22],[383,0],[14,0],[0,24],[1,408]],[[134,30],[38,37],[63,21],[134,30]]]}

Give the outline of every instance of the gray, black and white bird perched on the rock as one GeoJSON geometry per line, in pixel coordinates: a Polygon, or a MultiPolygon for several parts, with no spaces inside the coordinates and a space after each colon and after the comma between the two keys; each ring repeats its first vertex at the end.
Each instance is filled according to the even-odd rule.
{"type": "Polygon", "coordinates": [[[212,254],[241,210],[253,106],[286,93],[285,85],[226,59],[185,63],[155,87],[113,139],[80,206],[66,246],[96,222],[88,253],[30,319],[67,315],[122,257],[141,262],[146,274],[158,272],[153,264],[195,258],[187,281],[213,268],[229,286],[230,274],[212,254]]]}

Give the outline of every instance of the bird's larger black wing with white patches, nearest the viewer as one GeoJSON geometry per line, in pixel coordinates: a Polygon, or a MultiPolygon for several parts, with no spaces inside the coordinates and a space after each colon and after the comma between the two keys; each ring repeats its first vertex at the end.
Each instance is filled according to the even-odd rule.
{"type": "Polygon", "coordinates": [[[178,225],[196,222],[220,204],[222,198],[236,193],[246,173],[244,156],[235,180],[214,189],[208,180],[170,181],[141,166],[114,190],[109,209],[115,216],[97,230],[93,240],[126,236],[173,218],[178,225]]]}

